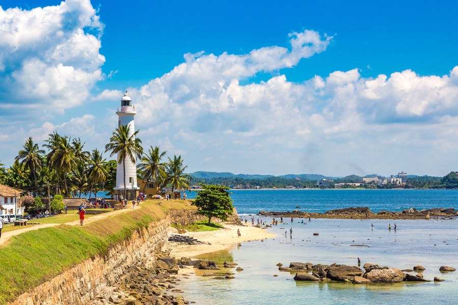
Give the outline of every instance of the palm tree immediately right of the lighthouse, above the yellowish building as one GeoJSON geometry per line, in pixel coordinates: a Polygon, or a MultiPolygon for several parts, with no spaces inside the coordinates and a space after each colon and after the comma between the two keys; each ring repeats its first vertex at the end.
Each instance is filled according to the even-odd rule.
{"type": "MultiPolygon", "coordinates": [[[[141,171],[144,182],[147,179],[151,179],[156,183],[157,186],[161,186],[162,182],[166,178],[165,174],[165,163],[161,163],[161,159],[167,154],[167,151],[159,151],[159,146],[153,148],[150,146],[148,149],[148,153],[144,154],[141,158],[141,163],[137,165],[137,169],[141,171]]],[[[143,192],[145,192],[146,188],[143,187],[143,192]]]]}

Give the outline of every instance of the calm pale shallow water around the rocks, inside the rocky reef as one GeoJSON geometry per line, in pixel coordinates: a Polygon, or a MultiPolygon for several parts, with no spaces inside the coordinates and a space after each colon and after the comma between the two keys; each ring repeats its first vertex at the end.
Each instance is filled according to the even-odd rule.
{"type": "MultiPolygon", "coordinates": [[[[264,220],[267,223],[271,218],[264,220]]],[[[193,269],[191,272],[195,271],[197,276],[191,276],[180,285],[180,289],[185,290],[183,295],[197,304],[215,305],[456,303],[458,271],[439,271],[441,265],[458,267],[456,220],[396,220],[397,230],[391,231],[388,224],[394,228],[394,223],[387,220],[317,219],[297,223],[301,220],[268,228],[268,232],[277,236],[264,242],[244,242],[241,246],[199,256],[218,263],[233,259],[244,270],[223,268],[220,271],[235,272],[236,278],[215,280],[199,276],[204,270],[193,269]],[[293,229],[291,236],[290,228],[293,229]],[[313,236],[315,232],[319,235],[313,236]],[[279,262],[285,266],[290,262],[356,265],[357,257],[361,259],[361,266],[366,262],[400,269],[423,265],[425,279],[433,280],[437,276],[446,282],[383,285],[296,282],[295,273],[279,271],[275,266],[279,262]]]]}

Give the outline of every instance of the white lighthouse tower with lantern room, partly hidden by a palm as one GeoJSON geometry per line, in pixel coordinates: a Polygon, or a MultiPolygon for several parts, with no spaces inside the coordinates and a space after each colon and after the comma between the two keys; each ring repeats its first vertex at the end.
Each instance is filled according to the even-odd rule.
{"type": "MultiPolygon", "coordinates": [[[[124,94],[121,99],[121,106],[118,107],[118,126],[127,125],[129,127],[129,137],[135,132],[134,115],[137,114],[135,106],[132,106],[132,99],[124,94]]],[[[119,154],[118,154],[119,158],[119,154]]],[[[117,158],[117,160],[118,160],[117,158]]],[[[116,187],[113,189],[115,195],[125,196],[126,199],[132,200],[138,196],[140,188],[137,186],[137,167],[135,162],[126,158],[123,162],[118,163],[116,168],[116,187]],[[123,162],[126,163],[126,180],[124,181],[123,162]],[[124,195],[124,182],[126,182],[126,195],[124,195]]]]}

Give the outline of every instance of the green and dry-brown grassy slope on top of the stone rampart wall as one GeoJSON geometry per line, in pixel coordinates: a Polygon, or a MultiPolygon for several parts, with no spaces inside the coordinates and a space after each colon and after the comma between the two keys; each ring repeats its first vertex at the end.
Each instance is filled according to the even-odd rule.
{"type": "Polygon", "coordinates": [[[151,200],[140,206],[82,227],[63,224],[13,236],[0,247],[0,304],[12,301],[84,259],[105,253],[113,243],[164,217],[170,209],[194,209],[182,200],[151,200]]]}

